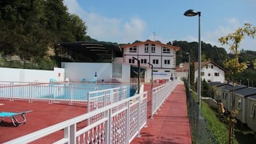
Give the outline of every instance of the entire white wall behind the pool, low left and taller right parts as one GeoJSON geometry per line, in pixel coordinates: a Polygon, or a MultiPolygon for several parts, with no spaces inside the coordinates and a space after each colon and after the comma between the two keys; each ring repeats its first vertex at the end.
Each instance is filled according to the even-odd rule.
{"type": "Polygon", "coordinates": [[[67,78],[71,82],[81,82],[82,79],[90,82],[97,80],[110,82],[115,79],[119,82],[130,83],[131,65],[120,64],[120,76],[113,77],[112,63],[82,63],[82,62],[63,62],[63,68],[54,67],[53,70],[40,69],[14,69],[0,67],[0,81],[8,82],[64,82],[67,78]]]}

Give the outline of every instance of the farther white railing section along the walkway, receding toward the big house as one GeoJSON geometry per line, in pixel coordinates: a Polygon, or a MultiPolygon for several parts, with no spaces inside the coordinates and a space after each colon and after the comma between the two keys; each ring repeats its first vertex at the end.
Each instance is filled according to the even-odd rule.
{"type": "Polygon", "coordinates": [[[161,105],[163,105],[166,98],[169,97],[177,84],[178,80],[170,80],[166,84],[153,88],[151,100],[151,118],[153,118],[153,115],[156,114],[157,110],[161,107],[161,105]]]}

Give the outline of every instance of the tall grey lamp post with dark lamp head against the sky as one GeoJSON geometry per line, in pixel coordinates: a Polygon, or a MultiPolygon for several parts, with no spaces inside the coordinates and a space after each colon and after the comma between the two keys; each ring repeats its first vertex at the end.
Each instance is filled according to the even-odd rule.
{"type": "Polygon", "coordinates": [[[199,110],[201,109],[201,36],[200,36],[200,16],[201,12],[200,11],[194,11],[193,9],[189,9],[184,13],[184,16],[196,16],[198,15],[198,80],[197,80],[197,95],[198,95],[198,105],[199,105],[199,110]]]}

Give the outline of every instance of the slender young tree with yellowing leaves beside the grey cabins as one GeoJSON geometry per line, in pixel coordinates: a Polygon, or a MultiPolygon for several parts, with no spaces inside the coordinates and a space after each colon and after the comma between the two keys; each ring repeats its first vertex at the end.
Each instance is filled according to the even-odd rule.
{"type": "Polygon", "coordinates": [[[232,92],[232,112],[229,115],[229,144],[234,140],[234,123],[235,123],[235,115],[237,114],[236,110],[234,110],[234,75],[237,75],[240,72],[243,72],[247,68],[246,62],[239,62],[239,48],[242,39],[245,39],[245,36],[255,37],[256,27],[252,27],[252,24],[246,23],[244,27],[240,27],[234,31],[232,34],[228,34],[225,37],[219,38],[219,42],[221,44],[229,44],[229,49],[234,57],[232,59],[226,60],[224,66],[229,69],[228,75],[232,78],[233,82],[233,92],[232,92]]]}

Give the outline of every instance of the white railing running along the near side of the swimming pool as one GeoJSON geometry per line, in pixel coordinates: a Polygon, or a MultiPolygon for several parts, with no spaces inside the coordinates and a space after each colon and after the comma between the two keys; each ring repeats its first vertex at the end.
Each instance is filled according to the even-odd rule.
{"type": "Polygon", "coordinates": [[[101,99],[103,96],[110,97],[111,94],[117,95],[116,97],[126,96],[126,93],[123,93],[126,92],[126,87],[121,85],[120,87],[117,85],[115,88],[109,87],[109,85],[83,85],[81,83],[72,83],[70,85],[69,83],[0,82],[0,99],[19,99],[28,100],[29,102],[48,101],[50,104],[53,102],[68,102],[72,105],[72,103],[87,103],[87,100],[89,100],[88,95],[98,95],[97,97],[101,97],[101,99]],[[93,93],[96,90],[98,90],[97,93],[93,93]]]}

